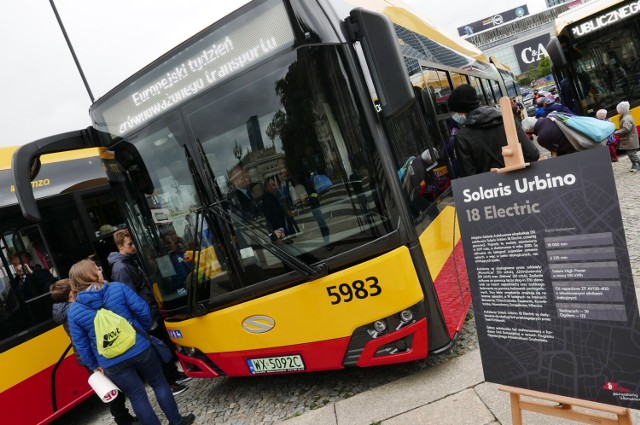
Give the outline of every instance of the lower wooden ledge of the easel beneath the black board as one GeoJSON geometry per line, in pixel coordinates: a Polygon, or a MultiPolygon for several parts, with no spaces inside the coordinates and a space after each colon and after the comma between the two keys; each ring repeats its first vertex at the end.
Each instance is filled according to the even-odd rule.
{"type": "Polygon", "coordinates": [[[498,390],[508,392],[511,396],[511,418],[513,425],[522,425],[522,411],[541,413],[543,415],[557,416],[559,418],[587,424],[602,425],[632,425],[631,412],[626,407],[611,406],[609,404],[596,403],[594,401],[580,400],[577,398],[563,397],[555,394],[542,393],[524,388],[508,387],[501,385],[498,390]],[[520,397],[533,397],[541,400],[558,403],[555,406],[540,403],[538,401],[522,400],[520,397]],[[574,406],[597,412],[605,412],[616,415],[615,418],[598,413],[577,412],[574,406]]]}

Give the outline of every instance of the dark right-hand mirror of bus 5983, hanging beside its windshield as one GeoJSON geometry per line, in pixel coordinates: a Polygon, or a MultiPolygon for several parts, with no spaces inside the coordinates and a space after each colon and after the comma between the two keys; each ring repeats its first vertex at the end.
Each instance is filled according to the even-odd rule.
{"type": "Polygon", "coordinates": [[[378,92],[382,115],[389,118],[413,102],[413,88],[393,24],[384,15],[353,9],[345,21],[352,41],[362,45],[378,92]]]}

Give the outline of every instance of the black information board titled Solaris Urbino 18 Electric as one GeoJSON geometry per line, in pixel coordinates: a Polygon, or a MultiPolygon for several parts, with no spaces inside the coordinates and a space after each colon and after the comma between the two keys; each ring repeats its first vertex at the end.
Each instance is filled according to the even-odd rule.
{"type": "Polygon", "coordinates": [[[640,322],[606,149],[453,180],[490,382],[640,408],[640,322]]]}

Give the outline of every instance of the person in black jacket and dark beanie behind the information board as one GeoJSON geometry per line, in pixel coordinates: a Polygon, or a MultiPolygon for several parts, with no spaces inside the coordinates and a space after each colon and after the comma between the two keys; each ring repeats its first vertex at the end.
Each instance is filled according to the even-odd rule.
{"type": "MultiPolygon", "coordinates": [[[[502,147],[507,145],[507,135],[500,111],[480,106],[476,90],[468,84],[451,92],[447,105],[453,112],[451,118],[462,126],[456,144],[462,175],[471,176],[504,167],[502,147]]],[[[516,130],[524,160],[537,161],[540,153],[536,146],[519,125],[516,130]]]]}

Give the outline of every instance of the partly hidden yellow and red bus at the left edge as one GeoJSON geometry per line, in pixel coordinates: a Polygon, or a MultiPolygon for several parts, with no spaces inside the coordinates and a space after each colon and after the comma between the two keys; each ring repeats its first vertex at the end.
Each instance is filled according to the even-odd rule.
{"type": "Polygon", "coordinates": [[[51,280],[66,277],[74,262],[115,249],[100,228],[123,218],[98,150],[88,149],[42,158],[31,186],[43,219],[25,220],[11,183],[14,151],[0,148],[0,411],[3,423],[36,424],[50,422],[93,390],[69,337],[51,318],[48,288],[24,290],[12,257],[27,252],[32,267],[48,270],[51,280]]]}

